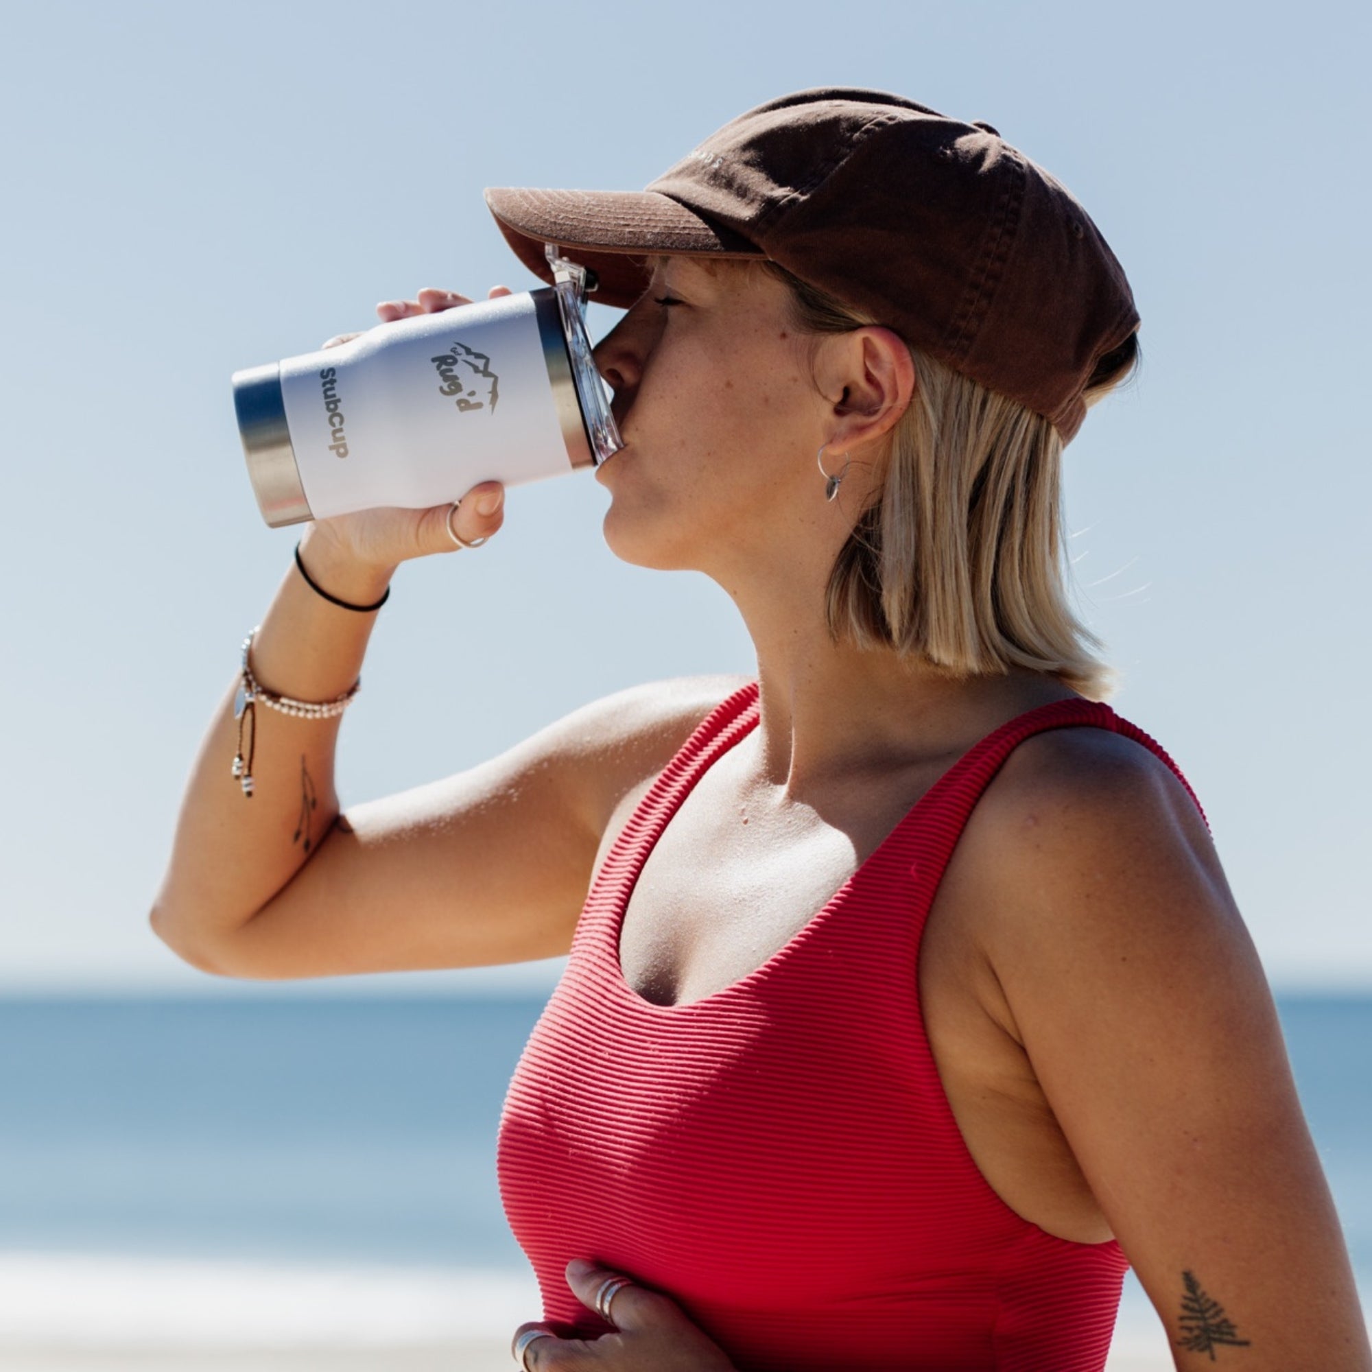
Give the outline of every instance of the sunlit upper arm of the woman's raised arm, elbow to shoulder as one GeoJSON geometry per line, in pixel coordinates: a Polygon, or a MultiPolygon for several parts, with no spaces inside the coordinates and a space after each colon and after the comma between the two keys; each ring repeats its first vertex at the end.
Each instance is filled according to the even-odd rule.
{"type": "Polygon", "coordinates": [[[468,771],[348,807],[209,970],[324,977],[565,954],[620,803],[735,685],[620,691],[468,771]]]}

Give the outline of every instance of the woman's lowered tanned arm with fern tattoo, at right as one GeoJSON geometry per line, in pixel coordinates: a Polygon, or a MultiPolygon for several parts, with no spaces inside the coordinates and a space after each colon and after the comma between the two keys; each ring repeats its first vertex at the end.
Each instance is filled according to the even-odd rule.
{"type": "Polygon", "coordinates": [[[1367,1372],[1338,1217],[1205,825],[1139,745],[1041,742],[996,801],[984,951],[1177,1367],[1367,1372]]]}

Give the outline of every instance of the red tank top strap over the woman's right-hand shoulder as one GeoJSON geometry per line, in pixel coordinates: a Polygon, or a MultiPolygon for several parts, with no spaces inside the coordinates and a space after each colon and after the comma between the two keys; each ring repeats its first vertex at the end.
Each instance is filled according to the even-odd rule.
{"type": "Polygon", "coordinates": [[[1181,782],[1196,811],[1205,820],[1205,811],[1196,800],[1191,783],[1166,750],[1137,724],[1121,719],[1109,705],[1089,700],[1059,700],[1040,705],[1002,724],[970,748],[938,778],[908,818],[916,819],[908,829],[910,856],[918,858],[919,875],[926,889],[943,878],[952,851],[971,816],[971,811],[1006,759],[1028,738],[1054,729],[1106,729],[1147,748],[1181,782]],[[916,852],[918,849],[918,852],[916,852]]]}

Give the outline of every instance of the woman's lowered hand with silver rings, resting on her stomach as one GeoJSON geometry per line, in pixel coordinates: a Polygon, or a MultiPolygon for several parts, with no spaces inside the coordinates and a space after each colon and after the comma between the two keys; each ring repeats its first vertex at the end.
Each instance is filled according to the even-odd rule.
{"type": "MultiPolygon", "coordinates": [[[[616,1275],[584,1258],[567,1264],[567,1284],[590,1310],[597,1292],[616,1275]]],[[[615,1332],[598,1339],[552,1334],[534,1339],[524,1350],[524,1367],[528,1372],[734,1372],[723,1349],[670,1297],[630,1281],[611,1298],[611,1316],[615,1332]]],[[[512,1350],[521,1335],[543,1328],[536,1320],[521,1324],[512,1350]]]]}

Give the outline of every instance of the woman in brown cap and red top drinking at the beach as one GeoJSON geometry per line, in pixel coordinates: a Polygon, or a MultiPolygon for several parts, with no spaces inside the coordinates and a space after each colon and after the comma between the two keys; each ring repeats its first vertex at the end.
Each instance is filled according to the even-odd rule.
{"type": "Polygon", "coordinates": [[[713,576],[756,681],[626,691],[343,816],[391,575],[491,536],[501,491],[313,524],[244,657],[314,718],[261,722],[244,804],[224,701],[158,933],[239,977],[571,952],[501,1128],[532,1372],[1085,1372],[1128,1264],[1179,1368],[1372,1368],[1203,818],[1098,704],[1062,584],[1061,449],[1136,357],[1085,211],[866,91],[749,111],[643,193],[488,200],[627,307],[606,541],[713,576]]]}

